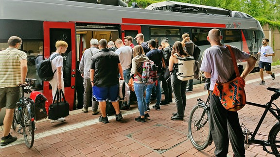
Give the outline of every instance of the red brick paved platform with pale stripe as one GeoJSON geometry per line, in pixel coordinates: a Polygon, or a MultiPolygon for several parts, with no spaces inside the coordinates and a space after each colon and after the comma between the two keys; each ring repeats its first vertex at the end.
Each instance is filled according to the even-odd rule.
{"type": "MultiPolygon", "coordinates": [[[[259,85],[259,73],[249,74],[246,78],[247,101],[265,104],[273,92],[267,87],[280,88],[280,68],[274,68],[275,80],[264,74],[265,85],[259,85]]],[[[0,156],[13,157],[212,157],[214,143],[203,151],[197,151],[188,140],[188,121],[191,109],[197,98],[206,99],[204,84],[195,85],[192,93],[187,93],[187,107],[184,121],[172,121],[170,117],[176,111],[175,103],[161,106],[161,110],[152,109],[146,123],[136,122],[139,116],[137,102],[131,110],[122,110],[123,121],[116,122],[114,116],[108,117],[108,124],[98,122],[101,115],[84,113],[82,110],[70,111],[63,123],[50,123],[45,119],[36,122],[34,146],[29,149],[23,136],[11,129],[18,140],[0,147],[0,156]]],[[[279,100],[275,104],[279,104],[279,100]]],[[[174,99],[173,99],[174,102],[174,99]]],[[[240,123],[253,128],[258,123],[263,110],[246,105],[239,111],[240,123]]],[[[271,114],[265,118],[260,133],[268,135],[270,128],[277,123],[271,114]]],[[[0,131],[0,135],[2,131],[0,131]]],[[[267,140],[266,136],[258,136],[267,140]]],[[[246,157],[274,157],[262,147],[251,145],[246,150],[246,157]]],[[[228,157],[233,156],[229,146],[228,157]]]]}

